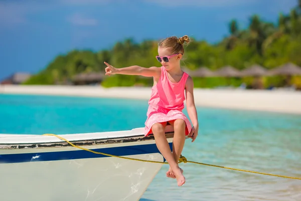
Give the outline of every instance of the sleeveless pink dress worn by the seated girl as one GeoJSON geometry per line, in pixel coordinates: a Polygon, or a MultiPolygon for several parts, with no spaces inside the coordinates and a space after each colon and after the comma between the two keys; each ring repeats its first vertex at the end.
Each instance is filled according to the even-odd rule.
{"type": "Polygon", "coordinates": [[[184,109],[185,84],[188,74],[184,72],[178,83],[173,83],[167,74],[164,66],[161,67],[161,76],[158,83],[152,87],[152,94],[148,101],[146,113],[144,136],[152,133],[152,126],[156,123],[168,122],[176,119],[183,119],[186,122],[185,135],[191,132],[192,125],[184,109]]]}

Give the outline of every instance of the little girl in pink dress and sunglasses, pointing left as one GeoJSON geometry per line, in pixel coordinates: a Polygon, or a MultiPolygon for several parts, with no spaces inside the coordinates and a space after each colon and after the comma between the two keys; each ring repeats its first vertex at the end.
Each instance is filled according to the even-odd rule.
{"type": "Polygon", "coordinates": [[[183,44],[189,43],[189,37],[183,36],[168,37],[158,44],[157,60],[161,67],[144,68],[140,66],[129,66],[115,68],[104,62],[106,75],[125,74],[142,75],[154,78],[152,94],[149,99],[147,119],[145,121],[145,133],[153,133],[159,151],[170,165],[166,175],[177,178],[178,185],[185,183],[183,170],[179,167],[178,161],[182,153],[185,136],[192,138],[192,142],[198,136],[198,117],[194,103],[193,80],[183,72],[180,60],[184,54],[183,44]],[[184,115],[184,100],[186,95],[187,112],[192,121],[193,127],[188,118],[184,115]],[[171,151],[165,136],[165,127],[170,124],[174,127],[173,152],[171,151]]]}

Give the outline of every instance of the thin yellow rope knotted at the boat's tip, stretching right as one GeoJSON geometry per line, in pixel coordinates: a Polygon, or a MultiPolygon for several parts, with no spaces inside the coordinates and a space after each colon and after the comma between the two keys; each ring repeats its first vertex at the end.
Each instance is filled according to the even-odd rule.
{"type": "MultiPolygon", "coordinates": [[[[68,144],[70,144],[73,147],[85,150],[85,151],[89,151],[92,152],[94,154],[101,154],[101,155],[105,155],[105,156],[111,156],[111,157],[116,157],[116,158],[122,158],[122,159],[128,159],[128,160],[135,160],[135,161],[142,161],[142,162],[150,162],[150,163],[161,163],[161,164],[168,164],[168,162],[160,162],[160,161],[152,161],[152,160],[142,160],[142,159],[136,159],[136,158],[129,158],[129,157],[123,157],[123,156],[115,156],[112,154],[106,154],[106,153],[102,153],[102,152],[97,152],[97,151],[93,151],[90,149],[86,149],[83,147],[79,147],[74,145],[73,143],[69,142],[67,139],[55,135],[55,134],[44,134],[44,135],[49,135],[49,136],[55,136],[61,140],[66,141],[68,144]]],[[[301,178],[299,177],[291,177],[291,176],[282,176],[282,175],[277,175],[277,174],[269,174],[269,173],[263,173],[263,172],[255,172],[255,171],[251,171],[251,170],[243,170],[243,169],[237,169],[237,168],[231,168],[231,167],[224,167],[224,166],[219,166],[219,165],[211,165],[211,164],[206,164],[206,163],[200,163],[200,162],[195,162],[195,161],[189,161],[187,160],[184,156],[181,155],[180,159],[179,159],[179,163],[184,162],[184,163],[194,163],[194,164],[199,164],[199,165],[207,165],[207,166],[212,166],[212,167],[219,167],[219,168],[224,168],[224,169],[230,169],[230,170],[236,170],[236,171],[242,171],[242,172],[250,172],[250,173],[255,173],[255,174],[264,174],[264,175],[269,175],[269,176],[277,176],[277,177],[284,177],[284,178],[289,178],[289,179],[299,179],[301,180],[301,178]]]]}

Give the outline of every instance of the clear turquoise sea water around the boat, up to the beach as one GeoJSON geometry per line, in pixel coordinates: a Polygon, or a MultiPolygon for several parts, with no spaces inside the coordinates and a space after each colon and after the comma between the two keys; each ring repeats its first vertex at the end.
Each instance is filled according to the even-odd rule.
{"type": "MultiPolygon", "coordinates": [[[[146,100],[0,94],[0,133],[87,133],[144,127],[146,100]]],[[[197,108],[188,160],[301,177],[301,116],[197,108]]],[[[185,109],[185,114],[187,114],[185,109]]],[[[163,166],[141,200],[301,200],[301,181],[180,164],[182,187],[163,166]]]]}

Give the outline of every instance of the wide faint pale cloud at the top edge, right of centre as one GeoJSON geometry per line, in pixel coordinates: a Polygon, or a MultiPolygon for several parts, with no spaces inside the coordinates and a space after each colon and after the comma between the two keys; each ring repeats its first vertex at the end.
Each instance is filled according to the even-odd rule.
{"type": "Polygon", "coordinates": [[[259,0],[144,0],[148,3],[155,3],[161,6],[166,7],[188,7],[188,6],[196,6],[196,7],[229,7],[229,6],[237,6],[237,5],[246,5],[254,2],[258,2],[259,0]]]}

